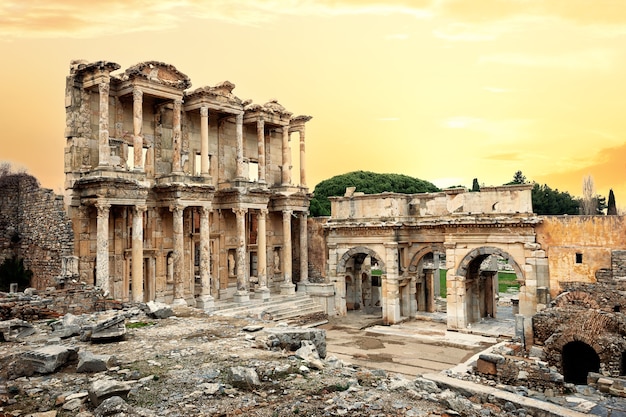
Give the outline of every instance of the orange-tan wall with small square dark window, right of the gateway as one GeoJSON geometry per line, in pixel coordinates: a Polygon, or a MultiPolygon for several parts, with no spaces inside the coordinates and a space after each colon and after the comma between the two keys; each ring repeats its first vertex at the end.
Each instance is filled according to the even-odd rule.
{"type": "MultiPolygon", "coordinates": [[[[626,250],[624,216],[545,216],[535,231],[548,257],[553,298],[565,282],[595,282],[602,269],[615,269],[612,251],[626,250]]],[[[625,276],[626,260],[616,262],[622,265],[616,276],[625,276]]]]}

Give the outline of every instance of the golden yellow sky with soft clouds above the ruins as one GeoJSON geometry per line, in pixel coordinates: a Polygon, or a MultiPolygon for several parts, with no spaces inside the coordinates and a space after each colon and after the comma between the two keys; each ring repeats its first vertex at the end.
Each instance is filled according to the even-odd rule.
{"type": "Polygon", "coordinates": [[[309,114],[308,185],[529,180],[626,206],[623,0],[3,0],[0,160],[60,191],[72,59],[174,65],[309,114]]]}

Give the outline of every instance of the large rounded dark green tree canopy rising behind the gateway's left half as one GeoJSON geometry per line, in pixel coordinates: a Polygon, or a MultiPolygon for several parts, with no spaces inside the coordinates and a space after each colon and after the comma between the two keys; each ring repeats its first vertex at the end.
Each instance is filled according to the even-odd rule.
{"type": "Polygon", "coordinates": [[[358,192],[365,194],[379,194],[385,191],[401,194],[440,191],[436,185],[408,175],[353,171],[336,175],[315,186],[310,206],[311,216],[330,216],[328,197],[342,196],[348,187],[356,187],[358,192]]]}

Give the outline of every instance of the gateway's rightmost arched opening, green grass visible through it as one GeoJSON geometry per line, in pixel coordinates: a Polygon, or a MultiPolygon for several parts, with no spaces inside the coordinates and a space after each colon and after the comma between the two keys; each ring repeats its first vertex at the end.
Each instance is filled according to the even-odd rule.
{"type": "Polygon", "coordinates": [[[456,275],[465,278],[467,323],[496,318],[500,293],[513,295],[524,282],[522,269],[513,257],[490,246],[476,248],[465,255],[456,275]]]}

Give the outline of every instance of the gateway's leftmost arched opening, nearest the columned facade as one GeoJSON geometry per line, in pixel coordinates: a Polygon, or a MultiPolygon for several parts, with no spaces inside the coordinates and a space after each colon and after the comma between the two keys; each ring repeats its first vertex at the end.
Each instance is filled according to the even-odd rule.
{"type": "Polygon", "coordinates": [[[382,275],[385,265],[373,250],[358,246],[343,254],[337,263],[337,276],[344,277],[346,310],[382,313],[382,275]]]}

